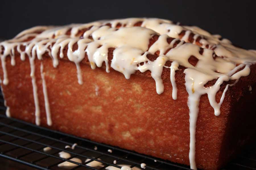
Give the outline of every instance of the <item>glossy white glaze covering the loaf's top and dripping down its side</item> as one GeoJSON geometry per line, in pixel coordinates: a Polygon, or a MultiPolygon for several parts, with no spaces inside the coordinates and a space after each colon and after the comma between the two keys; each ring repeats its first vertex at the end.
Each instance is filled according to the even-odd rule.
{"type": "MultiPolygon", "coordinates": [[[[11,65],[15,65],[15,47],[20,53],[23,61],[25,56],[29,57],[31,66],[31,78],[35,102],[36,124],[40,124],[40,108],[36,79],[34,76],[34,60],[37,56],[42,59],[46,52],[53,59],[53,67],[59,64],[59,57],[64,57],[63,50],[67,46],[67,58],[75,63],[77,69],[78,83],[83,84],[80,61],[88,56],[91,68],[101,67],[106,64],[106,71],[110,67],[124,74],[125,78],[130,78],[131,74],[139,70],[151,71],[151,76],[156,82],[156,92],[164,92],[162,82],[163,67],[170,68],[170,81],[172,84],[172,98],[177,99],[177,86],[175,82],[175,71],[179,65],[186,67],[185,86],[189,94],[189,131],[190,131],[190,151],[189,160],[192,169],[196,169],[195,163],[195,129],[198,116],[198,106],[201,95],[207,94],[210,105],[214,108],[214,114],[220,115],[220,106],[224,100],[225,93],[222,94],[220,103],[215,101],[215,95],[224,81],[237,80],[241,76],[248,76],[250,65],[256,63],[255,50],[243,50],[231,44],[227,39],[219,40],[220,35],[211,35],[207,31],[195,26],[180,26],[172,21],[157,18],[127,18],[119,20],[102,20],[88,24],[71,24],[61,27],[41,26],[33,27],[18,34],[14,39],[0,43],[3,47],[1,52],[1,64],[3,68],[3,84],[8,84],[8,74],[6,69],[6,58],[11,57],[11,65]],[[134,24],[141,22],[140,27],[134,24]],[[109,26],[111,25],[111,27],[109,26]],[[121,25],[119,29],[115,28],[121,25]],[[80,30],[87,28],[82,35],[77,35],[80,30]],[[67,31],[70,30],[70,35],[67,31]],[[36,32],[42,33],[36,33],[36,32]],[[183,35],[181,34],[183,33],[183,35]],[[192,34],[193,33],[193,34],[192,34]],[[158,39],[150,48],[149,39],[153,35],[158,35],[158,39]],[[191,35],[193,41],[191,40],[191,35]],[[79,38],[81,36],[81,38],[79,38]],[[24,41],[29,37],[35,37],[29,41],[24,41]],[[172,37],[170,44],[167,39],[172,37]],[[198,40],[197,40],[198,39],[198,40]],[[186,43],[185,43],[186,42],[186,43]],[[189,43],[191,42],[191,43],[189,43]],[[184,44],[185,43],[185,44],[184,44]],[[73,50],[73,45],[77,44],[77,49],[73,50]],[[22,46],[25,50],[22,51],[22,46]],[[49,49],[50,48],[50,49],[49,49]],[[108,63],[108,49],[113,50],[113,59],[108,63]],[[168,52],[167,50],[170,49],[168,52]],[[200,53],[201,48],[203,52],[200,53]],[[59,51],[60,49],[60,51],[59,51]],[[159,57],[154,61],[147,58],[148,54],[159,52],[159,57]],[[30,53],[31,52],[31,53],[30,53]],[[167,53],[166,53],[167,52],[167,53]],[[188,59],[194,56],[198,59],[195,66],[191,65],[188,59]],[[167,61],[172,61],[170,67],[165,66],[167,61]],[[143,63],[143,65],[141,64],[143,63]],[[238,65],[238,66],[236,66],[238,65]],[[243,68],[244,67],[244,68],[243,68]],[[239,69],[242,70],[238,71],[239,69]],[[210,87],[204,85],[211,80],[217,79],[216,83],[210,87]]],[[[237,82],[236,81],[236,82],[237,82]]],[[[95,88],[97,95],[98,90],[95,88]]]]}

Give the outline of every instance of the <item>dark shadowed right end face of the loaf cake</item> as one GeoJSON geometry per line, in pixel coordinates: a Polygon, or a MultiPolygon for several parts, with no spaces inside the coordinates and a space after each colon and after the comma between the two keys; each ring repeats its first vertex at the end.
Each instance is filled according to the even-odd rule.
{"type": "Polygon", "coordinates": [[[230,88],[230,115],[222,141],[220,160],[228,161],[244,148],[253,144],[256,138],[256,65],[251,66],[251,73],[241,78],[230,88]]]}

